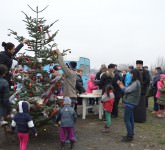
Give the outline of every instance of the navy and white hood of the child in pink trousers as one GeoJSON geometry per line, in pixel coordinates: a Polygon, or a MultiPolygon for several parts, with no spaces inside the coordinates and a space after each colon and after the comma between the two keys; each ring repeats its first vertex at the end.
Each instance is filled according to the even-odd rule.
{"type": "Polygon", "coordinates": [[[28,113],[30,108],[30,104],[27,101],[19,101],[18,102],[18,111],[19,113],[28,113]]]}

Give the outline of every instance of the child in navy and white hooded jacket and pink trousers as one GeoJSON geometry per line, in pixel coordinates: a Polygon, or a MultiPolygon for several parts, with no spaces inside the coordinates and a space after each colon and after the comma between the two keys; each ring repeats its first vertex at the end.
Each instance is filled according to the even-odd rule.
{"type": "Polygon", "coordinates": [[[15,127],[17,128],[18,138],[20,141],[20,150],[27,149],[27,143],[29,140],[29,129],[31,129],[35,136],[37,136],[33,120],[31,116],[28,114],[29,109],[30,104],[27,101],[19,101],[19,112],[15,115],[11,123],[13,130],[15,129],[15,127]]]}

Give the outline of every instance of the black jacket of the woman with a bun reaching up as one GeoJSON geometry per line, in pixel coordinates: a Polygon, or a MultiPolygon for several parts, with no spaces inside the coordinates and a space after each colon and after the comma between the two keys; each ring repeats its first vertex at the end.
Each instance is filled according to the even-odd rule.
{"type": "Polygon", "coordinates": [[[23,44],[19,44],[15,48],[15,52],[13,55],[8,53],[7,51],[0,52],[0,64],[5,65],[8,68],[8,73],[5,76],[5,79],[10,83],[11,75],[9,74],[9,71],[11,69],[12,63],[13,63],[13,57],[19,52],[19,50],[23,47],[23,44]]]}

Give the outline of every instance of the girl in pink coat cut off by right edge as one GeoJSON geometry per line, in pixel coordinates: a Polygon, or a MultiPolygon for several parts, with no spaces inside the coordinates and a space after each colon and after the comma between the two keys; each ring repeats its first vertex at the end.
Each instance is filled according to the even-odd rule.
{"type": "Polygon", "coordinates": [[[157,93],[156,98],[159,104],[159,112],[157,117],[164,117],[165,116],[165,74],[160,74],[160,81],[157,83],[157,93]]]}

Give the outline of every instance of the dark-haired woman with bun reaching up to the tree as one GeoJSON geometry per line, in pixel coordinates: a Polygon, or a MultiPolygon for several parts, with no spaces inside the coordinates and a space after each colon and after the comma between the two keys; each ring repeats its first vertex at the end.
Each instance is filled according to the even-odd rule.
{"type": "Polygon", "coordinates": [[[24,44],[27,44],[28,40],[24,39],[23,42],[21,42],[16,48],[13,43],[5,43],[2,42],[2,47],[4,47],[4,51],[0,52],[0,64],[5,65],[8,68],[8,72],[5,76],[5,79],[9,82],[11,85],[11,74],[9,73],[12,63],[13,63],[13,57],[20,51],[20,49],[23,47],[24,44]]]}

